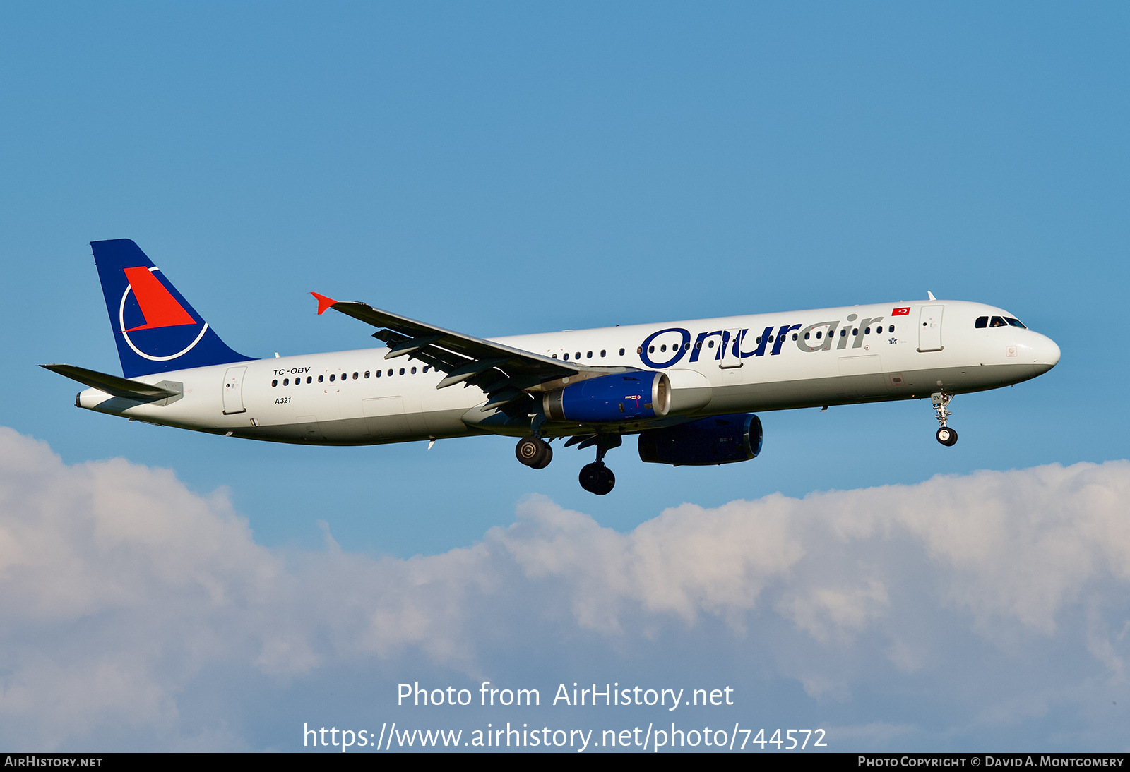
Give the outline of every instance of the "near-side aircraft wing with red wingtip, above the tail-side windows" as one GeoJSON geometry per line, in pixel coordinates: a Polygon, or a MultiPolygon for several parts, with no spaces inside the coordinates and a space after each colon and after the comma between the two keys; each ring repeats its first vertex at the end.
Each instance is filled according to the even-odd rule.
{"type": "Polygon", "coordinates": [[[583,380],[625,369],[565,362],[417,322],[407,316],[373,308],[368,304],[338,301],[318,292],[311,295],[318,298],[319,314],[332,308],[346,316],[380,327],[373,333],[373,337],[389,344],[385,359],[410,356],[446,372],[447,377],[441,380],[436,388],[446,388],[459,383],[481,388],[489,397],[487,404],[483,406],[484,411],[502,407],[507,413],[518,412],[519,405],[514,403],[522,402],[523,397],[529,401],[528,389],[544,391],[563,378],[583,380]]]}

